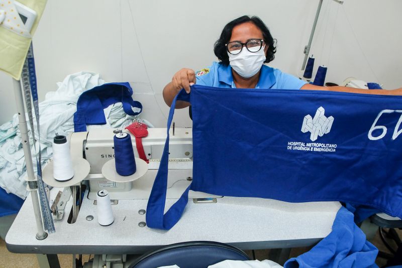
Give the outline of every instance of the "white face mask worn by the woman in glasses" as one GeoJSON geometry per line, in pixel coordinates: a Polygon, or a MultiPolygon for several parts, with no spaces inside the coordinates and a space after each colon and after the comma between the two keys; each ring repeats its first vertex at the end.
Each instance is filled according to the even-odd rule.
{"type": "Polygon", "coordinates": [[[248,78],[256,74],[264,63],[264,46],[257,52],[250,52],[246,47],[242,51],[233,55],[228,52],[229,64],[242,77],[248,78]]]}

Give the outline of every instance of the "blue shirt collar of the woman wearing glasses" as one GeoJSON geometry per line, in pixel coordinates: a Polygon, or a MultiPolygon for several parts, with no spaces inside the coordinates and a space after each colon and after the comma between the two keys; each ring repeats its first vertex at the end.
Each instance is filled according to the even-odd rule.
{"type": "MultiPolygon", "coordinates": [[[[230,86],[233,84],[232,67],[230,65],[219,64],[218,77],[220,82],[224,82],[230,86]]],[[[273,74],[273,68],[262,65],[260,78],[256,88],[270,88],[275,84],[275,75],[273,74]]]]}

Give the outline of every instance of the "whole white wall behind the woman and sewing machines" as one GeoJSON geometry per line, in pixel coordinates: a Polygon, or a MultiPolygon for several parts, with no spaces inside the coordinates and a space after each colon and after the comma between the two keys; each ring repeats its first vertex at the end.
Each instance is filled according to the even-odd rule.
{"type": "MultiPolygon", "coordinates": [[[[257,15],[278,40],[270,66],[296,74],[303,61],[318,1],[48,1],[34,37],[40,101],[67,74],[88,70],[106,81],[129,81],[143,118],[164,127],[164,85],[182,67],[200,69],[216,60],[213,44],[230,20],[257,15]]],[[[348,76],[402,86],[399,0],[324,0],[313,41],[327,80],[348,76]]],[[[1,60],[1,59],[0,59],[1,60]]],[[[318,64],[316,64],[318,66],[318,64]]],[[[317,68],[316,66],[316,68],[317,68]]],[[[0,74],[0,123],[16,112],[11,78],[0,74]]],[[[187,109],[176,126],[191,126],[187,109]]]]}

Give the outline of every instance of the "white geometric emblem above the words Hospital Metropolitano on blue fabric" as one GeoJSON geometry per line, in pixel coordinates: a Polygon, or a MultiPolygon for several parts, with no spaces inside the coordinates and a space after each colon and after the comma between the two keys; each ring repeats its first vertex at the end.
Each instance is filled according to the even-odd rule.
{"type": "Polygon", "coordinates": [[[302,132],[310,132],[310,139],[312,141],[317,140],[318,136],[322,137],[324,134],[328,134],[331,131],[334,118],[332,116],[326,117],[324,113],[324,108],[320,107],[317,109],[314,118],[312,118],[311,115],[307,115],[303,119],[302,132]]]}

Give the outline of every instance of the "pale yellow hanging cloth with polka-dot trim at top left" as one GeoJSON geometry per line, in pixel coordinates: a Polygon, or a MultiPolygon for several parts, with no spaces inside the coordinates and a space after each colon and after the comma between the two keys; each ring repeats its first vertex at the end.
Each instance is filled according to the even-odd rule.
{"type": "Polygon", "coordinates": [[[47,0],[19,0],[34,10],[37,17],[30,32],[17,13],[14,0],[0,0],[0,70],[19,80],[32,36],[38,27],[47,0]]]}

